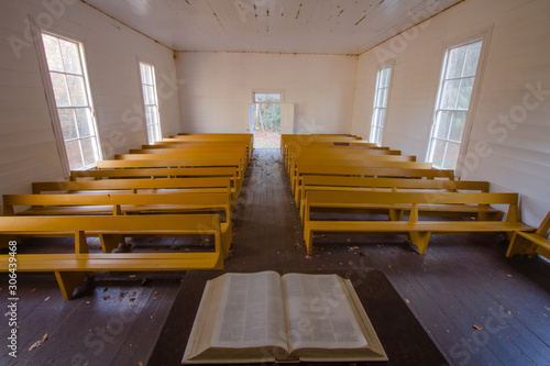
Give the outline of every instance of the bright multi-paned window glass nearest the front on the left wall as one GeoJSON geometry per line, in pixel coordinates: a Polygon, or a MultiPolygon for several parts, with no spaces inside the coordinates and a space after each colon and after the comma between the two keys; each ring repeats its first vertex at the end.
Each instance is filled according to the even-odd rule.
{"type": "Polygon", "coordinates": [[[92,167],[101,158],[97,124],[84,63],[82,44],[42,33],[47,69],[65,152],[72,170],[92,167]]]}

